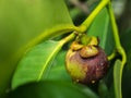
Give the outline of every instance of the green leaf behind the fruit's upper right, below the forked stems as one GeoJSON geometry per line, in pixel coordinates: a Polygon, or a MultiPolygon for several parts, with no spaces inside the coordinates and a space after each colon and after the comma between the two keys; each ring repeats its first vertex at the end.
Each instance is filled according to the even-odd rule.
{"type": "Polygon", "coordinates": [[[114,50],[114,37],[110,32],[109,15],[107,9],[103,9],[95,17],[93,24],[87,30],[88,36],[97,36],[99,38],[99,46],[110,54],[114,50]]]}

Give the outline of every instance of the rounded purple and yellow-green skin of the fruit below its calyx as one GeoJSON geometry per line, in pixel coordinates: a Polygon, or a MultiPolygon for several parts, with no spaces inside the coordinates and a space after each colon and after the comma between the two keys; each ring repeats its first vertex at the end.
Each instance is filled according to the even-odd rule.
{"type": "Polygon", "coordinates": [[[82,58],[81,50],[69,50],[66,57],[66,68],[72,79],[83,84],[95,83],[104,77],[108,70],[107,56],[100,47],[94,57],[82,58]]]}

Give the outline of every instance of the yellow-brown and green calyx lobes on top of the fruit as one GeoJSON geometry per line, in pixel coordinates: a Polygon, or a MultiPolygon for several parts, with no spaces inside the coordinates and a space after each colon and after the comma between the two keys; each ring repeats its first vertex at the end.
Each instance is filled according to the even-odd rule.
{"type": "Polygon", "coordinates": [[[71,45],[71,50],[78,51],[80,50],[80,56],[82,58],[90,58],[98,54],[98,39],[95,36],[88,37],[83,34],[78,37],[75,41],[71,45]]]}

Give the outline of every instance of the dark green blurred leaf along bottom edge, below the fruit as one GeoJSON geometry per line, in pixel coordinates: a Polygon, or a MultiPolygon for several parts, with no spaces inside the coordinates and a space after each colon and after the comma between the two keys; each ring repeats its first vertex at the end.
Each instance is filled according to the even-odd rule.
{"type": "Polygon", "coordinates": [[[98,98],[90,88],[62,81],[45,81],[17,87],[9,98],[98,98]]]}

